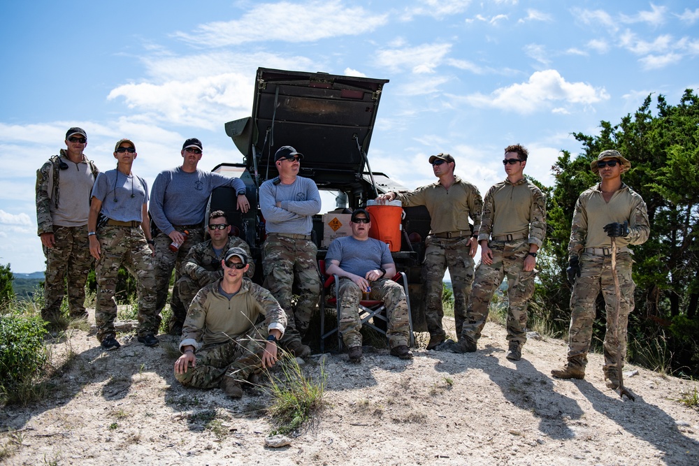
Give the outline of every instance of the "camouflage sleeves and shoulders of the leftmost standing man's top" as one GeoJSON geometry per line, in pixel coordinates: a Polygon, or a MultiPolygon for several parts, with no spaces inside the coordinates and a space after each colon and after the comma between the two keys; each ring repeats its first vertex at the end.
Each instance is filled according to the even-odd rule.
{"type": "MultiPolygon", "coordinates": [[[[65,149],[60,151],[60,155],[53,155],[44,163],[41,168],[36,170],[36,224],[38,226],[38,235],[42,233],[53,233],[53,220],[51,217],[51,203],[54,207],[58,207],[59,203],[59,177],[60,163],[59,159],[68,158],[65,149]]],[[[99,169],[95,166],[92,160],[88,160],[85,155],[82,156],[82,162],[89,165],[92,172],[92,182],[96,180],[99,169]]]]}

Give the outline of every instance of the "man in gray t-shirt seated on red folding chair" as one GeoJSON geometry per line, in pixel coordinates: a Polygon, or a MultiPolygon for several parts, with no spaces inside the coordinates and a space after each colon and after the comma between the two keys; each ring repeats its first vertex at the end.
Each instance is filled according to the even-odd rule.
{"type": "Polygon", "coordinates": [[[350,219],[352,236],[333,240],[325,256],[326,272],[340,277],[340,289],[335,292],[340,301],[340,334],[348,348],[349,361],[361,360],[359,300],[367,291],[370,299],[386,303],[391,356],[410,359],[408,301],[403,286],[391,280],[396,275],[396,264],[389,247],[369,238],[371,221],[366,210],[354,210],[350,219]]]}

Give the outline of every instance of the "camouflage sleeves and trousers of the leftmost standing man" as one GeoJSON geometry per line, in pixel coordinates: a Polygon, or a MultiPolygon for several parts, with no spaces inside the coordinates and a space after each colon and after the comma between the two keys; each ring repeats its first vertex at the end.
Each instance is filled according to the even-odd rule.
{"type": "MultiPolygon", "coordinates": [[[[59,203],[59,184],[61,172],[59,158],[69,163],[66,150],[60,151],[60,156],[52,156],[36,171],[36,224],[38,235],[53,233],[55,246],[43,247],[46,256],[46,275],[44,280],[44,307],[41,316],[46,321],[54,322],[61,314],[61,303],[68,282],[69,313],[73,317],[87,316],[85,311],[85,282],[92,268],[92,256],[89,254],[87,241],[87,214],[89,212],[89,191],[99,173],[92,161],[82,157],[82,163],[87,167],[82,173],[70,173],[80,177],[80,183],[85,188],[85,203],[59,203]],[[75,210],[80,210],[76,212],[75,210]],[[84,223],[79,226],[59,226],[55,224],[55,216],[59,212],[67,212],[71,217],[82,217],[84,223]],[[72,214],[72,215],[71,215],[72,214]]],[[[81,219],[82,222],[82,219],[81,219]]]]}

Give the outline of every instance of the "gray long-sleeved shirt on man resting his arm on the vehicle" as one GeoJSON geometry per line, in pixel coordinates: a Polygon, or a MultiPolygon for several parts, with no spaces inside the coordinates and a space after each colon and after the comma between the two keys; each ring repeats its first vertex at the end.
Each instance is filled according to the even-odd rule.
{"type": "Polygon", "coordinates": [[[201,224],[211,191],[222,186],[245,190],[240,178],[203,170],[187,173],[182,167],[163,170],[153,182],[150,215],[166,235],[175,230],[173,225],[201,224]]]}

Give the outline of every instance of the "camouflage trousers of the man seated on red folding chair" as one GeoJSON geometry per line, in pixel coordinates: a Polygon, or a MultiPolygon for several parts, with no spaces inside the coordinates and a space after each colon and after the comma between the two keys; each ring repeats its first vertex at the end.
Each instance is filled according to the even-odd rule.
{"type": "MultiPolygon", "coordinates": [[[[361,347],[361,320],[359,319],[359,300],[362,293],[358,285],[347,277],[340,277],[340,290],[331,293],[340,301],[340,335],[348,348],[361,347]]],[[[386,304],[386,316],[389,319],[387,337],[391,348],[401,345],[410,346],[410,321],[408,319],[408,300],[405,299],[403,286],[389,279],[380,279],[371,283],[369,299],[381,300],[386,304]]]]}

